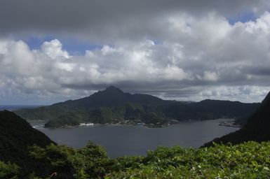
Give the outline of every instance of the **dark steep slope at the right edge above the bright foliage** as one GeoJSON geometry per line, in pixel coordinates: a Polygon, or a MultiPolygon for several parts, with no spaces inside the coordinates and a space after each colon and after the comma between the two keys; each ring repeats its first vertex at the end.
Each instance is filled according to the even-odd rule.
{"type": "Polygon", "coordinates": [[[270,141],[270,92],[256,112],[248,117],[242,129],[221,138],[215,138],[204,146],[210,146],[213,142],[237,144],[246,141],[270,141]]]}

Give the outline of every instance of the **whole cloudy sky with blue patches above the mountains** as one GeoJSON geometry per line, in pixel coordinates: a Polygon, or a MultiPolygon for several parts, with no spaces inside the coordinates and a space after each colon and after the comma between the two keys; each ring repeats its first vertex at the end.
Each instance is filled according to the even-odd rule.
{"type": "Polygon", "coordinates": [[[0,105],[109,85],[179,101],[262,101],[270,1],[0,1],[0,105]]]}

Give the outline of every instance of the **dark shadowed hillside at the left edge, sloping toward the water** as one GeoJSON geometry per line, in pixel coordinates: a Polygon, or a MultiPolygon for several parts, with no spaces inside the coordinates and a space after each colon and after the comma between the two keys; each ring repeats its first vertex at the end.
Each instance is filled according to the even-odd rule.
{"type": "Polygon", "coordinates": [[[0,161],[32,169],[34,162],[29,157],[29,146],[45,147],[54,143],[45,134],[31,127],[15,113],[0,111],[0,161]]]}

